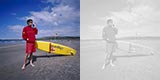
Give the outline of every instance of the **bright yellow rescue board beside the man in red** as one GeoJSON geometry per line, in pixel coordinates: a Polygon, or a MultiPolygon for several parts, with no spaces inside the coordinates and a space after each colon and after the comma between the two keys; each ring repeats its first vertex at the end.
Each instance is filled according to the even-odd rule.
{"type": "Polygon", "coordinates": [[[47,41],[36,41],[36,46],[39,50],[59,55],[75,55],[77,52],[71,47],[47,41]]]}

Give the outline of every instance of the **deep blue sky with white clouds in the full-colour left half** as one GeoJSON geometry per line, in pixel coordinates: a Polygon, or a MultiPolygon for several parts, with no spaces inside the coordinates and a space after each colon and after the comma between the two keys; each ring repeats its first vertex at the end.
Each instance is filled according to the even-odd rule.
{"type": "Polygon", "coordinates": [[[0,39],[21,39],[27,19],[37,37],[80,36],[79,0],[0,0],[0,10],[0,39]]]}

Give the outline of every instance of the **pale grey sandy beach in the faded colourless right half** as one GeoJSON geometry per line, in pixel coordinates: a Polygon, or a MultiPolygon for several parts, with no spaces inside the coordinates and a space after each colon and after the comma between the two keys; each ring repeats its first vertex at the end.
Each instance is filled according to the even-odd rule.
{"type": "Polygon", "coordinates": [[[159,80],[159,40],[141,40],[137,43],[155,49],[148,53],[114,53],[114,65],[102,70],[105,60],[105,42],[81,40],[81,80],[159,80]]]}

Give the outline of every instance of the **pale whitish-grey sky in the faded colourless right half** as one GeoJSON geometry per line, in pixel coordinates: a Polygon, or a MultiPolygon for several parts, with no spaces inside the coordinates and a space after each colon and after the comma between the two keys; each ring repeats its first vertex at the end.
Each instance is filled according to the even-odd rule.
{"type": "Polygon", "coordinates": [[[160,36],[159,0],[81,0],[80,4],[81,39],[102,39],[107,19],[118,28],[116,37],[160,36]]]}

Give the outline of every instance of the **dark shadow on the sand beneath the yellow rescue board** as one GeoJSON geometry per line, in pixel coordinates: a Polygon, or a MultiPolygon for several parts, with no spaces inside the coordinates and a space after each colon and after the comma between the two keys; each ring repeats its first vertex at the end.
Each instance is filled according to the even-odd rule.
{"type": "MultiPolygon", "coordinates": [[[[65,56],[66,55],[58,55],[58,54],[33,55],[33,63],[36,62],[38,58],[65,57],[65,56]]],[[[27,62],[26,66],[29,64],[30,64],[30,61],[27,62]]]]}

